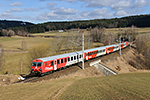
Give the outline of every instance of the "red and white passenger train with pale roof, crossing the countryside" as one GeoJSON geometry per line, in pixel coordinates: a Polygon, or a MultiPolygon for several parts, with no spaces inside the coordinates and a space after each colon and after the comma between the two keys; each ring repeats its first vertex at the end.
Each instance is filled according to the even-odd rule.
{"type": "MultiPolygon", "coordinates": [[[[84,51],[84,60],[89,60],[101,55],[109,54],[120,48],[125,48],[129,45],[129,42],[124,42],[121,44],[108,45],[104,47],[87,49],[84,51]]],[[[43,75],[61,69],[66,66],[70,66],[79,62],[82,62],[83,55],[82,51],[66,53],[56,56],[50,56],[45,58],[38,58],[33,60],[31,73],[36,73],[43,75]]]]}

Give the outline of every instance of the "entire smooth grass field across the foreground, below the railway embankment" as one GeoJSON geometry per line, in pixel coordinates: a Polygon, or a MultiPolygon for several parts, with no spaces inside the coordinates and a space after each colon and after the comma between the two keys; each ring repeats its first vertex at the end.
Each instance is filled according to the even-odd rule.
{"type": "Polygon", "coordinates": [[[0,86],[0,100],[149,100],[150,73],[0,86]]]}

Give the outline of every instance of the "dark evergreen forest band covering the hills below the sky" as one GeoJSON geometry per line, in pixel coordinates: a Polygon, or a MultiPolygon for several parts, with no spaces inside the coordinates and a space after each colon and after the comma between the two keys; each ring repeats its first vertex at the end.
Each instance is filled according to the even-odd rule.
{"type": "MultiPolygon", "coordinates": [[[[18,21],[19,22],[19,21],[18,21]]],[[[119,27],[150,27],[150,14],[127,16],[122,18],[112,19],[95,19],[95,20],[79,20],[79,21],[61,21],[61,22],[46,22],[41,24],[24,23],[22,21],[16,23],[15,21],[0,21],[0,35],[2,36],[2,29],[26,33],[43,33],[53,30],[68,30],[73,28],[88,29],[88,28],[119,28],[119,27]]]]}

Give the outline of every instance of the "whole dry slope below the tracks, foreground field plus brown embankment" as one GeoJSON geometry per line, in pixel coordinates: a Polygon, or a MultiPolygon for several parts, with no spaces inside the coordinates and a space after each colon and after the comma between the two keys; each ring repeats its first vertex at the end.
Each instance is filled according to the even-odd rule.
{"type": "Polygon", "coordinates": [[[118,71],[119,75],[115,76],[104,76],[100,74],[95,67],[87,67],[84,70],[80,69],[75,73],[57,79],[26,84],[18,83],[6,85],[6,81],[8,81],[8,83],[12,82],[17,76],[0,76],[0,99],[150,99],[150,71],[138,70],[129,65],[127,61],[134,59],[135,49],[127,49],[128,50],[124,52],[121,57],[118,54],[107,61],[102,61],[106,65],[110,65],[110,63],[113,62],[114,64],[108,66],[112,69],[116,66],[120,66],[121,70],[118,71]],[[126,57],[127,55],[128,57],[126,57]],[[3,79],[6,81],[2,81],[3,79]]]}

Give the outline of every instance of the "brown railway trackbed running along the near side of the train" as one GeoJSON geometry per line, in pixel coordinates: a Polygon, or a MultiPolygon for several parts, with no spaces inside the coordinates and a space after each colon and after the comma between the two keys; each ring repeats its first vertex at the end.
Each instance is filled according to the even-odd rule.
{"type": "MultiPolygon", "coordinates": [[[[122,51],[122,53],[125,53],[128,50],[130,50],[129,47],[126,47],[126,48],[122,49],[121,51],[122,51]]],[[[85,61],[85,63],[84,63],[85,68],[90,67],[89,63],[96,61],[98,59],[101,59],[101,61],[103,62],[103,61],[107,61],[108,59],[112,59],[117,56],[120,56],[119,51],[113,52],[108,55],[103,55],[103,56],[97,57],[95,59],[85,61]]],[[[38,82],[38,81],[43,81],[43,80],[56,79],[56,78],[60,78],[62,76],[67,76],[69,74],[75,73],[76,71],[81,70],[81,68],[82,68],[82,63],[79,63],[79,64],[68,66],[68,67],[64,68],[63,70],[56,70],[55,72],[45,75],[45,76],[42,76],[42,77],[35,77],[32,75],[28,75],[28,76],[25,76],[26,79],[24,81],[18,81],[15,83],[28,83],[28,82],[38,82]]]]}

